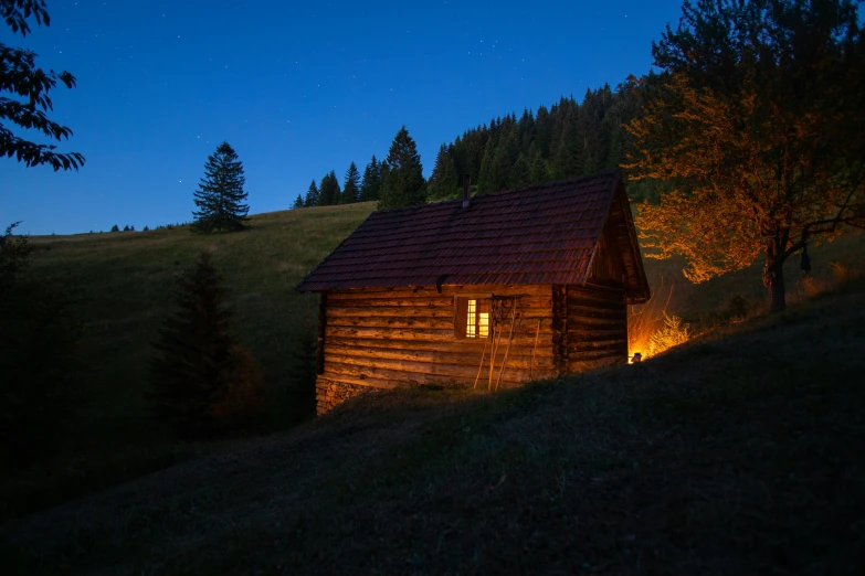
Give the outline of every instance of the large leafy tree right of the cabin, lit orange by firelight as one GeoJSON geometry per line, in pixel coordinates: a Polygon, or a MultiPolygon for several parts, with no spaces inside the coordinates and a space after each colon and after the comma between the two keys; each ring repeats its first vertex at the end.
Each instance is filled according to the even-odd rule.
{"type": "Polygon", "coordinates": [[[637,217],[650,257],[703,281],[764,257],[771,309],[784,260],[865,224],[863,39],[852,0],[685,2],[653,44],[662,74],[629,130],[626,168],[663,183],[637,217]]]}

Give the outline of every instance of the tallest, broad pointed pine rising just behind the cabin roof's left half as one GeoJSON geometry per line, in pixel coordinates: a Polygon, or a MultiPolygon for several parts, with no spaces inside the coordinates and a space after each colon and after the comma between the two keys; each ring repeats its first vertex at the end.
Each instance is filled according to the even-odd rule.
{"type": "Polygon", "coordinates": [[[389,170],[381,182],[379,210],[423,202],[423,166],[418,147],[404,126],[393,137],[387,162],[389,170]]]}

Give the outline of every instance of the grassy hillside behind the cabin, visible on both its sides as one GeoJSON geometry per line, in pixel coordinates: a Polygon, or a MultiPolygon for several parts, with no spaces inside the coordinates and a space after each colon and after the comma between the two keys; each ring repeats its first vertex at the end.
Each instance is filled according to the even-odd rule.
{"type": "MultiPolygon", "coordinates": [[[[89,367],[88,404],[68,424],[60,458],[0,478],[0,518],[17,516],[170,466],[220,445],[176,442],[147,412],[147,361],[162,318],[175,302],[177,275],[209,250],[224,275],[235,306],[236,331],[262,364],[268,385],[265,430],[294,425],[313,410],[312,386],[295,376],[298,337],[314,332],[317,297],[294,290],[297,281],[373,209],[372,203],[262,214],[241,234],[194,236],[187,228],[32,238],[33,273],[60,279],[77,298],[85,321],[82,355],[89,367]]],[[[812,250],[812,288],[831,284],[835,271],[863,268],[865,237],[854,236],[812,250]]],[[[764,302],[760,267],[707,285],[684,280],[682,263],[646,260],[655,303],[683,316],[697,330],[718,324],[732,295],[752,312],[764,302]],[[669,287],[673,286],[673,294],[669,287]]],[[[789,263],[791,291],[803,287],[789,263]]],[[[817,291],[815,289],[812,292],[817,291]]],[[[651,322],[650,322],[651,323],[651,322]]]]}

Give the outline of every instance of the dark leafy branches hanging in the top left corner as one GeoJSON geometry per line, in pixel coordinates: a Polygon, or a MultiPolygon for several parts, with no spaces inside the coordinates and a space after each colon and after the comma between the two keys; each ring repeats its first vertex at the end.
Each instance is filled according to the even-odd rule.
{"type": "MultiPolygon", "coordinates": [[[[0,0],[0,14],[12,33],[27,36],[32,19],[36,25],[50,25],[44,0],[0,0]]],[[[38,143],[15,136],[12,127],[34,130],[49,140],[62,141],[72,129],[51,120],[54,109],[49,93],[57,83],[75,87],[75,76],[68,72],[45,72],[36,66],[36,54],[0,42],[0,156],[15,158],[28,167],[49,164],[54,171],[77,170],[84,164],[78,152],[57,152],[54,143],[38,143]]]]}

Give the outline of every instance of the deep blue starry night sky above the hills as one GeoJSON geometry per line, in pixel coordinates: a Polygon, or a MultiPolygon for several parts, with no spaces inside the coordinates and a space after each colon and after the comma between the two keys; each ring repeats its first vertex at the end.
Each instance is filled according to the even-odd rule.
{"type": "Polygon", "coordinates": [[[648,71],[681,0],[294,2],[49,0],[52,24],[0,38],[68,70],[53,118],[80,172],[0,160],[0,224],[57,234],[184,222],[228,140],[251,212],[387,156],[405,125],[429,177],[439,145],[494,116],[578,102],[648,71]]]}

